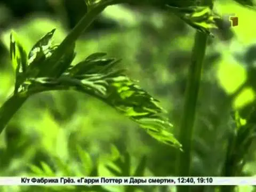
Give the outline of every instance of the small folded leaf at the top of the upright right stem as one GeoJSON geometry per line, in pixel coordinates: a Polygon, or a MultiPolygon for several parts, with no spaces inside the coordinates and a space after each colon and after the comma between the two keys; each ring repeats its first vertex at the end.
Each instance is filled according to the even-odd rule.
{"type": "Polygon", "coordinates": [[[201,31],[202,33],[211,34],[210,30],[217,28],[215,19],[220,18],[214,14],[210,7],[207,6],[189,6],[189,7],[173,7],[169,6],[169,10],[175,13],[183,21],[191,27],[201,31]]]}

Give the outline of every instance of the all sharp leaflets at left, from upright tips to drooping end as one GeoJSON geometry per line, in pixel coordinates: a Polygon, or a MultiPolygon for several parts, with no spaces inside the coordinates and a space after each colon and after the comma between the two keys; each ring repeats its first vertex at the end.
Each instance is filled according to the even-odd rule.
{"type": "Polygon", "coordinates": [[[41,38],[28,57],[16,40],[17,35],[11,34],[11,58],[17,76],[14,94],[24,97],[42,91],[77,90],[114,107],[155,139],[181,148],[180,143],[166,130],[170,130],[172,124],[162,115],[164,110],[159,106],[159,101],[116,67],[119,60],[105,58],[105,53],[94,53],[71,66],[75,57],[73,44],[54,68],[45,68],[44,64],[58,49],[58,45],[51,44],[54,31],[41,38]],[[48,76],[44,76],[46,74],[48,76]]]}

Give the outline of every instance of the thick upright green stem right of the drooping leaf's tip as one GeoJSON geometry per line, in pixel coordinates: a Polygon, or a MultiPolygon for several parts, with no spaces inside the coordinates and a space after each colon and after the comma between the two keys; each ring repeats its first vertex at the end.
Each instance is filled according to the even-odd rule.
{"type": "MultiPolygon", "coordinates": [[[[212,0],[205,0],[201,4],[210,6],[211,8],[213,6],[212,0]]],[[[197,31],[187,79],[185,105],[179,127],[180,133],[178,139],[181,142],[183,149],[183,152],[178,152],[179,154],[177,156],[177,175],[179,176],[190,176],[193,127],[206,43],[207,35],[197,31]]],[[[190,186],[177,187],[178,192],[189,192],[190,190],[190,186]]]]}

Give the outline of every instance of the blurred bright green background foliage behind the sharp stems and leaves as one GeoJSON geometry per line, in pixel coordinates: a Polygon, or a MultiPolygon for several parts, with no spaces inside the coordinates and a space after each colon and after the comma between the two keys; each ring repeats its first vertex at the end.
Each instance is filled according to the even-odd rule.
{"type": "MultiPolygon", "coordinates": [[[[228,153],[228,141],[238,133],[234,133],[237,126],[231,110],[239,110],[241,118],[253,114],[250,126],[255,127],[256,119],[256,29],[249,19],[255,18],[256,13],[234,1],[214,3],[214,9],[220,13],[236,13],[239,25],[231,30],[214,30],[215,38],[208,42],[191,167],[193,175],[197,176],[224,174],[222,168],[226,159],[233,159],[234,154],[228,153]]],[[[0,1],[0,12],[3,15],[0,18],[0,102],[4,103],[14,87],[8,53],[11,29],[17,31],[27,51],[53,28],[58,29],[54,41],[60,43],[86,12],[86,4],[83,0],[9,0],[0,1]]],[[[73,62],[82,61],[94,52],[107,52],[109,57],[121,58],[120,65],[127,74],[138,79],[140,86],[168,110],[174,125],[169,131],[177,133],[175,128],[182,112],[194,33],[194,29],[163,7],[110,6],[78,40],[77,56],[73,62]]],[[[105,103],[81,93],[54,91],[36,94],[26,101],[0,136],[1,175],[38,175],[38,171],[48,175],[47,170],[53,170],[57,175],[90,175],[90,170],[97,164],[99,175],[116,175],[106,166],[114,162],[113,151],[116,149],[113,144],[125,159],[129,159],[126,161],[130,161],[131,175],[144,161],[144,155],[147,164],[143,175],[174,175],[175,149],[155,141],[137,126],[105,103]],[[65,172],[67,170],[72,172],[65,172]]],[[[242,149],[243,143],[234,142],[237,150],[242,149]]],[[[254,140],[251,142],[242,175],[255,175],[256,145],[254,140]]],[[[230,167],[234,166],[229,162],[226,171],[232,171],[230,167]]],[[[122,172],[122,168],[119,167],[119,171],[122,172]]],[[[106,187],[95,191],[103,189],[127,190],[106,187]]],[[[3,192],[35,190],[55,191],[54,188],[42,187],[1,187],[3,192]]],[[[66,188],[61,190],[69,191],[66,188]]],[[[71,189],[82,190],[87,189],[71,189]]],[[[175,189],[163,186],[136,189],[141,190],[175,189]]],[[[211,186],[194,189],[212,190],[211,186]]],[[[239,187],[239,191],[255,189],[239,187]]]]}

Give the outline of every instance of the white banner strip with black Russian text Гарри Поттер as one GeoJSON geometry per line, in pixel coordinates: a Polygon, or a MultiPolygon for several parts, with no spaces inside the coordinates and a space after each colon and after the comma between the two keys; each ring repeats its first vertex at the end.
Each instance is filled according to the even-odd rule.
{"type": "Polygon", "coordinates": [[[0,186],[254,186],[256,177],[0,177],[0,186]]]}

